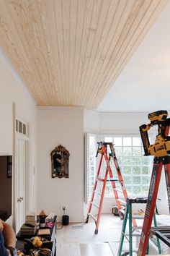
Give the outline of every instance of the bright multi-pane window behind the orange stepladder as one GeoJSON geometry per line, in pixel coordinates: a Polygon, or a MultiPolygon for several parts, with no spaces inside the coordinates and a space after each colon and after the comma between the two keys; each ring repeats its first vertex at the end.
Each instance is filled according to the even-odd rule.
{"type": "MultiPolygon", "coordinates": [[[[95,157],[97,152],[97,141],[113,142],[117,161],[120,166],[120,171],[122,173],[128,195],[148,195],[148,187],[151,178],[153,158],[151,156],[144,156],[143,145],[140,137],[105,136],[102,138],[100,137],[100,140],[97,140],[96,136],[90,135],[89,170],[87,170],[89,172],[89,182],[87,182],[87,184],[89,184],[88,197],[91,198],[91,192],[93,191],[95,177],[97,174],[96,167],[98,167],[99,161],[99,157],[98,159],[95,157]]],[[[110,162],[110,166],[112,168],[113,174],[115,174],[115,176],[117,177],[115,164],[112,161],[110,162]]],[[[100,171],[101,174],[104,174],[105,167],[105,164],[103,164],[100,171]]],[[[106,186],[105,196],[114,196],[111,182],[108,182],[106,186]]]]}

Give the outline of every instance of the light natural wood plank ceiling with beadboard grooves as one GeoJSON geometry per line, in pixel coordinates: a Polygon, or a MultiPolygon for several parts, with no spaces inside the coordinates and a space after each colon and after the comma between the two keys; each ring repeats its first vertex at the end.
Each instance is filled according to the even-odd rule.
{"type": "Polygon", "coordinates": [[[0,0],[0,46],[40,106],[95,109],[167,0],[0,0]]]}

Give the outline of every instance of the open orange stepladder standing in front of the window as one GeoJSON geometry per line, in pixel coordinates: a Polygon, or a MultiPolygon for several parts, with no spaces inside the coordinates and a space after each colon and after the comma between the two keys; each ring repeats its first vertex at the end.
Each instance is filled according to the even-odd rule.
{"type": "MultiPolygon", "coordinates": [[[[86,223],[88,223],[89,217],[93,218],[94,221],[95,221],[96,229],[94,231],[94,234],[98,234],[98,230],[99,230],[99,220],[100,220],[100,216],[101,216],[101,212],[102,212],[102,204],[103,204],[103,200],[104,200],[104,191],[105,191],[106,183],[109,181],[112,184],[112,189],[113,189],[113,192],[114,192],[114,195],[115,195],[117,209],[119,210],[120,216],[124,216],[124,214],[125,214],[125,210],[122,210],[122,207],[121,207],[120,203],[122,203],[123,205],[126,205],[126,200],[127,200],[127,197],[128,197],[127,191],[125,189],[125,184],[124,184],[123,179],[122,179],[122,174],[121,174],[121,171],[120,171],[120,167],[119,167],[119,164],[117,162],[117,157],[116,157],[116,154],[115,154],[115,148],[113,147],[113,143],[112,142],[97,142],[97,143],[98,143],[97,155],[98,155],[98,153],[100,153],[99,167],[98,167],[98,170],[97,170],[97,176],[96,176],[96,180],[94,182],[94,189],[93,189],[93,192],[92,192],[92,195],[91,195],[89,210],[88,210],[87,217],[86,217],[86,223]],[[100,174],[100,171],[101,171],[101,166],[102,166],[103,159],[105,160],[105,163],[106,163],[106,171],[105,171],[104,177],[101,177],[101,176],[99,176],[99,174],[100,174]],[[113,177],[112,169],[110,167],[111,159],[113,159],[113,162],[115,163],[115,169],[116,169],[116,172],[117,172],[118,179],[115,179],[113,177]],[[108,179],[108,177],[109,177],[109,179],[108,179]],[[103,183],[102,193],[97,191],[98,182],[103,183]],[[116,182],[120,182],[121,189],[118,189],[116,187],[116,182]],[[121,200],[119,198],[118,192],[122,192],[124,200],[121,200]],[[95,194],[100,196],[99,205],[97,205],[93,202],[95,194]],[[94,215],[91,214],[92,206],[94,206],[98,209],[97,218],[94,215]]],[[[133,219],[133,226],[137,226],[135,219],[133,219]]]]}

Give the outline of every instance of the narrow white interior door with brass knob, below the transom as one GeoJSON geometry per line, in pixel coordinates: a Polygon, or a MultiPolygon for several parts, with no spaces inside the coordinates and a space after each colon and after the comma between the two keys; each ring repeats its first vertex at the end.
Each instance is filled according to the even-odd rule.
{"type": "Polygon", "coordinates": [[[26,170],[26,142],[16,140],[16,232],[25,221],[25,170],[26,170]]]}

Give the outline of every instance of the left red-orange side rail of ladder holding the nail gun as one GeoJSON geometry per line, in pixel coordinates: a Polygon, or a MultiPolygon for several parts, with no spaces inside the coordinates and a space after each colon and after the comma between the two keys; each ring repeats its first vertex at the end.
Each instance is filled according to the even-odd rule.
{"type": "Polygon", "coordinates": [[[148,236],[153,220],[153,213],[156,206],[156,197],[158,195],[158,186],[161,179],[162,162],[157,162],[158,158],[154,158],[153,171],[151,176],[151,183],[148,192],[148,200],[146,204],[146,213],[143,221],[143,229],[140,236],[140,244],[138,249],[138,256],[145,256],[148,245],[148,236]]]}

